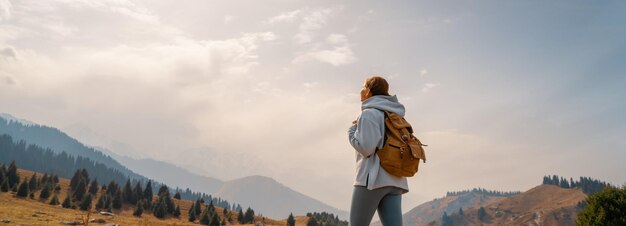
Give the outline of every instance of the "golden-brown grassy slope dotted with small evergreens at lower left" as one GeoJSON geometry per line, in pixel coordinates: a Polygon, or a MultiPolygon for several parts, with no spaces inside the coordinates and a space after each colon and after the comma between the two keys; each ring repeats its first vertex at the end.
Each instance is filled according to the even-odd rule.
{"type": "MultiPolygon", "coordinates": [[[[32,171],[18,169],[18,174],[24,180],[25,177],[30,178],[33,175],[32,171]]],[[[43,174],[37,173],[40,177],[43,174]]],[[[59,202],[61,202],[65,196],[67,196],[69,190],[69,180],[65,178],[59,178],[59,184],[61,185],[61,192],[58,195],[59,202]]],[[[0,192],[0,219],[8,219],[11,221],[11,225],[59,225],[61,221],[76,221],[81,218],[87,217],[87,211],[80,211],[75,209],[65,209],[59,206],[49,205],[50,198],[48,200],[39,200],[39,191],[35,192],[35,199],[30,198],[18,198],[12,192],[0,192]]],[[[94,198],[92,209],[96,204],[97,197],[94,198]]],[[[155,199],[156,200],[156,196],[155,199]]],[[[97,214],[95,211],[89,213],[90,218],[101,218],[106,220],[107,223],[115,223],[120,225],[200,225],[198,223],[191,223],[187,221],[188,211],[192,202],[188,200],[174,199],[177,205],[180,205],[181,216],[179,218],[167,217],[165,219],[158,219],[152,215],[151,212],[144,212],[141,217],[135,217],[132,215],[134,206],[124,205],[121,210],[114,210],[115,216],[103,216],[97,214]]],[[[216,207],[216,212],[220,219],[223,219],[223,209],[216,207]]],[[[233,219],[237,219],[237,213],[233,212],[233,219]]],[[[297,225],[306,225],[307,217],[296,217],[297,225]]],[[[263,217],[257,217],[256,221],[263,221],[266,225],[286,225],[285,220],[272,220],[263,217]]],[[[100,225],[94,224],[92,225],[100,225]]]]}

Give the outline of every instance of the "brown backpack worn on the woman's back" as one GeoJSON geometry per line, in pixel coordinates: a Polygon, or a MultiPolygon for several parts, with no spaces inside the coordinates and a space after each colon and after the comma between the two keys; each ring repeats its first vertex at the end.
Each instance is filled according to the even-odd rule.
{"type": "Polygon", "coordinates": [[[398,177],[412,177],[417,173],[420,159],[426,163],[426,154],[413,128],[404,117],[394,112],[385,112],[385,144],[376,154],[380,165],[389,174],[398,177]]]}

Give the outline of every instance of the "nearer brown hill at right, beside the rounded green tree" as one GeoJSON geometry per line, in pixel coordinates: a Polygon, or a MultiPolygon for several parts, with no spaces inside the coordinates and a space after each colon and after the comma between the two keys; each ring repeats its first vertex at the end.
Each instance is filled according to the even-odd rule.
{"type": "MultiPolygon", "coordinates": [[[[580,189],[539,185],[524,193],[485,205],[487,217],[478,219],[480,206],[455,214],[453,225],[573,225],[578,202],[587,196],[580,189]]],[[[441,219],[430,225],[441,225],[441,219]]]]}

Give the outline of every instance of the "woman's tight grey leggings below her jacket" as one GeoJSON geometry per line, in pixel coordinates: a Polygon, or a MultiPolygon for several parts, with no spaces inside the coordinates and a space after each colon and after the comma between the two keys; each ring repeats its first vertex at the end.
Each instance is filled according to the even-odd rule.
{"type": "Polygon", "coordinates": [[[401,194],[395,187],[367,190],[364,186],[354,186],[350,226],[370,225],[376,209],[384,226],[402,226],[401,194]]]}

